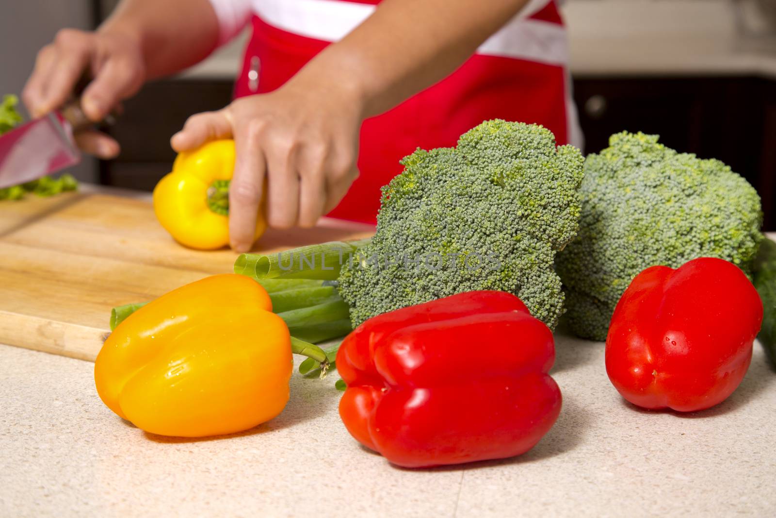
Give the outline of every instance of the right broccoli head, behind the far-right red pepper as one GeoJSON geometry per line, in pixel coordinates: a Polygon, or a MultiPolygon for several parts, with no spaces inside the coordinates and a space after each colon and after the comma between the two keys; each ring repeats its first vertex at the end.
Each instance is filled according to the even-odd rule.
{"type": "Polygon", "coordinates": [[[588,155],[576,238],[558,254],[570,329],[605,340],[630,281],[653,265],[719,257],[750,271],[762,238],[760,197],[719,160],[622,132],[588,155]]]}

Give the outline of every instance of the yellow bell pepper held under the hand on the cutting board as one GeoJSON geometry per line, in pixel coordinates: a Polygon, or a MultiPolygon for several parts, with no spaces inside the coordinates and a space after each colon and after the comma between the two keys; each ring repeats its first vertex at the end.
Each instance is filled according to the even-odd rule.
{"type": "MultiPolygon", "coordinates": [[[[210,141],[175,158],[172,172],[154,188],[154,212],[175,241],[192,249],[229,244],[229,182],[234,141],[210,141]]],[[[258,211],[254,241],[267,225],[258,211]]]]}

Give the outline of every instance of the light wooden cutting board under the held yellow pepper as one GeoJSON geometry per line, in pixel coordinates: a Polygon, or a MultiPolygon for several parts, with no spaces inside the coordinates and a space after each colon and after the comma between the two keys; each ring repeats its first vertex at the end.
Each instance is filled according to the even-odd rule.
{"type": "MultiPolygon", "coordinates": [[[[267,231],[255,252],[358,239],[372,227],[324,218],[317,228],[267,231]]],[[[213,273],[235,252],[185,249],[147,195],[84,186],[51,198],[0,202],[0,343],[94,360],[110,310],[148,301],[213,273]]]]}

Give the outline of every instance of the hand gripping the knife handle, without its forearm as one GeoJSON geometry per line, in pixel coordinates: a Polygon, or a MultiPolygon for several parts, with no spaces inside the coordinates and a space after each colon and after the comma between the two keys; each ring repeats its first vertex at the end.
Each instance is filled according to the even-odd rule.
{"type": "MultiPolygon", "coordinates": [[[[54,41],[38,52],[22,92],[27,110],[33,117],[56,110],[84,75],[92,80],[81,95],[81,108],[97,122],[143,85],[146,74],[139,40],[129,33],[60,30],[54,41]]],[[[83,151],[99,158],[119,154],[119,144],[99,131],[78,132],[75,141],[83,151]]]]}

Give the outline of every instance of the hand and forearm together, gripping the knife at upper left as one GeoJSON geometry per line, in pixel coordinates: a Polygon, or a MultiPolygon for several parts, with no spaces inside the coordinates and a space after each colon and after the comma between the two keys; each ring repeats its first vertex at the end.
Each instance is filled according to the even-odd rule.
{"type": "MultiPolygon", "coordinates": [[[[22,92],[27,110],[41,116],[91,80],[81,108],[102,120],[144,81],[202,61],[218,43],[218,19],[209,0],[122,0],[95,32],[63,29],[43,47],[22,92]]],[[[74,135],[83,151],[100,158],[119,154],[119,144],[98,131],[74,135]]]]}

